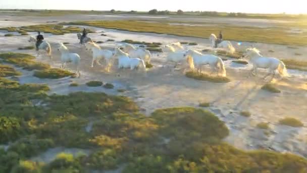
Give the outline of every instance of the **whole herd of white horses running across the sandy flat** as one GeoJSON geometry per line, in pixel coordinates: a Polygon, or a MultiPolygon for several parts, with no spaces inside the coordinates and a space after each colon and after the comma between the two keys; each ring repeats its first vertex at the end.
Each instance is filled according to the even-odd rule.
{"type": "MultiPolygon", "coordinates": [[[[211,34],[209,39],[212,47],[215,47],[215,41],[217,40],[216,36],[211,34]]],[[[35,45],[35,37],[30,36],[29,42],[32,42],[35,45]]],[[[92,53],[91,67],[94,66],[94,63],[101,65],[100,61],[104,61],[106,69],[109,71],[113,63],[117,61],[119,69],[130,68],[131,70],[139,69],[146,71],[145,64],[150,63],[150,52],[144,48],[135,47],[131,44],[123,43],[118,45],[114,48],[114,51],[101,49],[90,39],[82,45],[87,51],[91,51],[92,53]]],[[[230,54],[235,53],[235,49],[230,41],[224,40],[220,42],[217,48],[225,49],[230,54]]],[[[47,41],[43,41],[39,45],[39,50],[44,50],[47,55],[52,58],[52,48],[47,41]]],[[[186,62],[191,70],[196,70],[201,73],[201,67],[203,65],[210,65],[211,73],[216,72],[218,75],[221,74],[222,76],[226,76],[224,62],[216,55],[202,54],[192,49],[185,50],[180,42],[173,42],[166,46],[162,46],[162,50],[167,53],[166,60],[175,63],[175,67],[180,63],[186,62]]],[[[72,63],[75,65],[76,71],[80,75],[80,56],[76,53],[71,53],[63,43],[59,44],[58,51],[61,52],[62,68],[64,69],[67,63],[72,63]]],[[[268,69],[269,73],[266,77],[269,75],[273,75],[274,77],[276,72],[279,73],[280,77],[287,75],[285,64],[282,61],[277,58],[264,57],[256,48],[251,47],[245,49],[243,55],[242,58],[248,59],[253,66],[250,75],[257,74],[259,68],[268,69]]]]}

